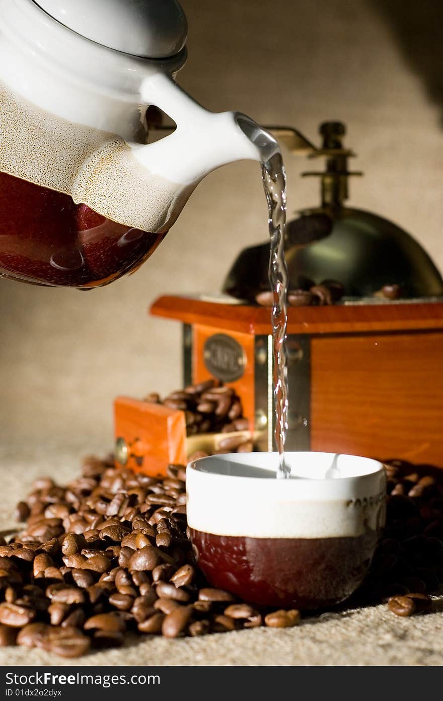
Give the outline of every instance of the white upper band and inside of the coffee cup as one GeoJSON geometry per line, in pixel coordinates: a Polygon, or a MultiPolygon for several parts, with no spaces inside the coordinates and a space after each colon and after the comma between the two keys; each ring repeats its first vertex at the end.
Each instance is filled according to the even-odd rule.
{"type": "Polygon", "coordinates": [[[218,455],[188,465],[191,529],[250,538],[345,538],[383,526],[386,475],[370,458],[286,454],[291,479],[276,479],[275,453],[218,455]]]}

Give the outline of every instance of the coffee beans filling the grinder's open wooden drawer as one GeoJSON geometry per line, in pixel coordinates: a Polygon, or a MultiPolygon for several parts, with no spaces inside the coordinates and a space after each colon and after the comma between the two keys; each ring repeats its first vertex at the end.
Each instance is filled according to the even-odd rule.
{"type": "MultiPolygon", "coordinates": [[[[217,380],[210,379],[183,390],[176,390],[164,400],[153,392],[144,397],[144,400],[184,411],[186,435],[189,436],[200,433],[231,433],[246,431],[249,428],[249,421],[243,416],[240,398],[233,388],[226,387],[217,380]]],[[[241,441],[237,447],[240,447],[240,444],[241,441]]],[[[222,448],[225,448],[222,450],[224,453],[231,451],[227,446],[222,448]]]]}

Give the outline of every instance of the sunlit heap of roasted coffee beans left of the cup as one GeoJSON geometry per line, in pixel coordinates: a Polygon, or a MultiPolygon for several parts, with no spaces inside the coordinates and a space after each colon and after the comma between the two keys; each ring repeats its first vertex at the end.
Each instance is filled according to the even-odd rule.
{"type": "Polygon", "coordinates": [[[77,657],[127,632],[203,635],[297,625],[210,587],[186,527],[185,469],[155,479],[86,458],[67,486],[41,478],[17,507],[24,531],[0,545],[0,644],[77,657]]]}

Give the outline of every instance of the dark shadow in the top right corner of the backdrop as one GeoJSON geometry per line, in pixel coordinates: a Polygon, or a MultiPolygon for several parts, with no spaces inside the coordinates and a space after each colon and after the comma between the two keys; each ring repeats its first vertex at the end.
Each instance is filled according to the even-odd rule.
{"type": "Polygon", "coordinates": [[[405,62],[440,108],[443,128],[443,3],[436,0],[369,0],[390,28],[405,62]]]}

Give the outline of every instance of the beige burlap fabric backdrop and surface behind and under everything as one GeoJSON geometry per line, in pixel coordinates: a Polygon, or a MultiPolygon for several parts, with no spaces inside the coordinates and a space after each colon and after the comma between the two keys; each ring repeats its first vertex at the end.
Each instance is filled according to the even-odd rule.
{"type": "MultiPolygon", "coordinates": [[[[210,109],[238,109],[264,124],[294,125],[311,139],[318,138],[320,121],[346,121],[348,144],[360,156],[353,165],[365,172],[351,182],[350,201],[404,226],[442,268],[440,4],[182,5],[189,19],[189,60],[179,83],[210,109]]],[[[288,156],[286,165],[289,212],[315,204],[317,184],[299,179],[306,162],[288,156]]],[[[154,258],[132,277],[88,294],[0,281],[5,522],[33,474],[71,475],[81,454],[111,447],[116,395],[165,393],[180,385],[179,325],[146,316],[158,294],[217,290],[238,251],[265,239],[258,165],[236,163],[200,184],[154,258]]],[[[101,653],[93,663],[146,661],[147,655],[160,662],[168,651],[177,664],[435,665],[442,661],[441,616],[399,621],[369,609],[277,634],[147,641],[123,654],[101,653]],[[402,662],[405,642],[409,657],[402,662]]],[[[7,660],[25,658],[41,662],[23,651],[7,660]]]]}

